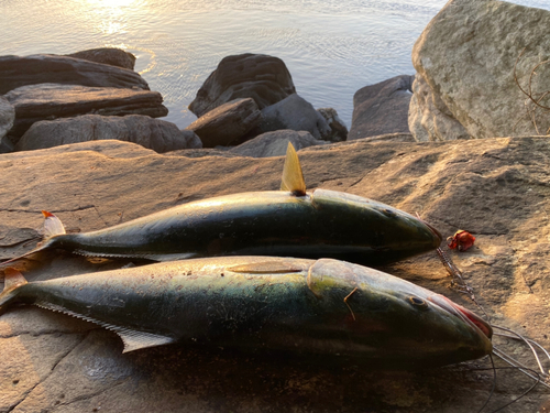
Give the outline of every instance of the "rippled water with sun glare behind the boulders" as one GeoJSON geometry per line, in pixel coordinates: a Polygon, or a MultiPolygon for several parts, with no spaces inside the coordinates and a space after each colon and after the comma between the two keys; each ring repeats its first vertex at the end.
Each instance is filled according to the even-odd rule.
{"type": "MultiPolygon", "coordinates": [[[[446,0],[0,0],[0,55],[67,54],[114,46],[179,128],[187,106],[228,55],[282,58],[296,90],[351,126],[353,95],[415,73],[413,45],[446,0]]],[[[549,10],[548,0],[516,3],[549,10]]]]}

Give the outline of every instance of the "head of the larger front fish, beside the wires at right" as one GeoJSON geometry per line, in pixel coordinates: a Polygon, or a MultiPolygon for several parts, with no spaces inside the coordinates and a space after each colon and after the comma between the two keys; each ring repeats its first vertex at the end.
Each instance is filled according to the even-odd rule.
{"type": "Polygon", "coordinates": [[[317,261],[308,280],[318,298],[339,308],[342,326],[364,354],[372,348],[373,357],[408,367],[474,360],[493,350],[486,322],[408,281],[329,259],[317,261]]]}

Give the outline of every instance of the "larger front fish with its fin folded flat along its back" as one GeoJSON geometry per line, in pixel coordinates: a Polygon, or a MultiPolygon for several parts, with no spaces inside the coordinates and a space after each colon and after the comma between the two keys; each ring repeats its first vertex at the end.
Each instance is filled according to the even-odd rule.
{"type": "Polygon", "coordinates": [[[123,352],[179,343],[408,368],[492,351],[492,327],[475,313],[334,259],[197,258],[36,282],[10,268],[0,314],[14,303],[112,330],[123,352]]]}

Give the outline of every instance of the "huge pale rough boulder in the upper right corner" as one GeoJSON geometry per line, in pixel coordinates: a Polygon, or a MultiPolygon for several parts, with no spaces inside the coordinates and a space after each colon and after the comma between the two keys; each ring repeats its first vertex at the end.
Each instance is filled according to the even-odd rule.
{"type": "MultiPolygon", "coordinates": [[[[448,119],[440,121],[441,113],[452,116],[473,138],[544,134],[550,116],[521,93],[514,67],[518,61],[517,80],[528,90],[532,69],[550,55],[549,25],[548,10],[494,0],[449,1],[413,50],[413,64],[435,95],[438,109],[416,117],[420,124],[422,118],[437,119],[427,122],[424,135],[438,131],[435,139],[446,140],[448,130],[451,139],[464,135],[457,133],[460,128],[448,128],[448,119]],[[535,110],[535,122],[528,109],[535,110]],[[438,128],[431,129],[432,124],[438,128]],[[439,124],[444,126],[442,131],[439,124]]],[[[540,101],[546,107],[550,107],[549,70],[548,65],[539,66],[531,84],[534,99],[547,94],[540,101]]],[[[429,107],[417,112],[425,110],[429,107]]]]}

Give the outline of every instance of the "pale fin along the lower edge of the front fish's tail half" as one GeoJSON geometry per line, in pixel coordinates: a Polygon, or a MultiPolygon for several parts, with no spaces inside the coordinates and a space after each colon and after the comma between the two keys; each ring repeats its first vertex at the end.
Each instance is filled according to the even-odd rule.
{"type": "Polygon", "coordinates": [[[147,347],[156,347],[156,346],[163,346],[167,345],[170,343],[174,343],[175,339],[173,337],[167,337],[167,336],[161,336],[158,334],[153,334],[153,333],[146,333],[146,332],[138,332],[131,328],[125,328],[125,327],[120,327],[116,326],[113,324],[105,323],[99,319],[96,319],[90,316],[86,316],[76,312],[72,312],[70,309],[67,309],[63,306],[47,303],[47,302],[35,302],[34,305],[37,307],[51,309],[57,313],[63,313],[66,315],[70,315],[76,318],[84,319],[86,322],[90,322],[94,324],[97,324],[103,328],[107,328],[111,332],[114,332],[119,335],[119,337],[122,339],[122,343],[124,344],[124,349],[122,352],[129,352],[129,351],[134,351],[139,350],[141,348],[147,348],[147,347]]]}

